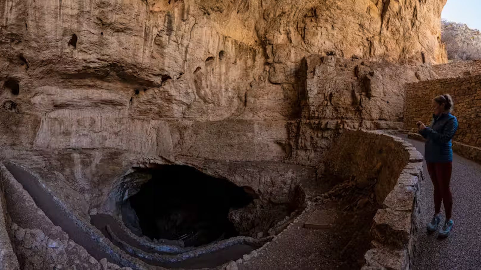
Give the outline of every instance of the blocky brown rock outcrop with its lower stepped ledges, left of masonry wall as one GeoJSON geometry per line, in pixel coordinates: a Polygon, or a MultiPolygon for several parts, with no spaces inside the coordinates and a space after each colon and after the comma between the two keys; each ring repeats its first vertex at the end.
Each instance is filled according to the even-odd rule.
{"type": "Polygon", "coordinates": [[[404,85],[437,78],[429,65],[406,66],[329,55],[303,61],[300,119],[287,123],[286,161],[317,167],[343,129],[401,129],[404,85]]]}

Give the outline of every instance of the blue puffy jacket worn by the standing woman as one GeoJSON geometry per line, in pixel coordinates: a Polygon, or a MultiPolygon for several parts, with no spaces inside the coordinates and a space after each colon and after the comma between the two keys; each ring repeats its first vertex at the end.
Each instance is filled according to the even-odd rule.
{"type": "Polygon", "coordinates": [[[430,127],[419,131],[426,139],[424,157],[427,162],[453,161],[451,139],[456,133],[457,125],[456,116],[448,112],[440,116],[433,115],[430,127]]]}

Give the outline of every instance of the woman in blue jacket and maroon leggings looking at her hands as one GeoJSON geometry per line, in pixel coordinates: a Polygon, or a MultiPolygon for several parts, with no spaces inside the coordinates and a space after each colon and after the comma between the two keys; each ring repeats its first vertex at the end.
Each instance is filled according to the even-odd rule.
{"type": "Polygon", "coordinates": [[[428,224],[428,231],[434,232],[441,221],[441,202],[444,203],[446,219],[440,237],[447,237],[453,228],[451,218],[453,195],[449,189],[453,169],[453,149],[451,139],[457,130],[456,116],[451,114],[453,99],[445,94],[432,100],[434,114],[430,127],[418,122],[418,132],[426,139],[425,159],[428,172],[434,185],[434,217],[428,224]]]}

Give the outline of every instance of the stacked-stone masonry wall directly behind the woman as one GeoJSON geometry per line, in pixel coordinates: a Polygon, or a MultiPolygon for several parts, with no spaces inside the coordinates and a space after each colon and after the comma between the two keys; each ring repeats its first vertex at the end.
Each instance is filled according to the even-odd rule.
{"type": "Polygon", "coordinates": [[[444,93],[454,99],[453,114],[459,127],[454,140],[475,147],[481,146],[481,75],[431,80],[405,86],[405,129],[416,128],[417,121],[429,124],[432,118],[431,99],[444,93]]]}

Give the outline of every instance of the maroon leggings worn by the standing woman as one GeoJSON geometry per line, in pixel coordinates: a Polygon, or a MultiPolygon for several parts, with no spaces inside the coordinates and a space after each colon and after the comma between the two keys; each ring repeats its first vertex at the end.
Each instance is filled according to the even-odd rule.
{"type": "Polygon", "coordinates": [[[446,211],[446,220],[451,219],[453,211],[453,195],[449,189],[451,181],[451,172],[453,171],[453,162],[430,163],[427,162],[429,176],[434,185],[434,211],[439,214],[441,210],[441,201],[444,203],[446,211]]]}

